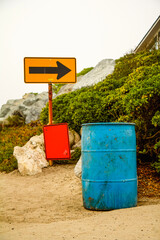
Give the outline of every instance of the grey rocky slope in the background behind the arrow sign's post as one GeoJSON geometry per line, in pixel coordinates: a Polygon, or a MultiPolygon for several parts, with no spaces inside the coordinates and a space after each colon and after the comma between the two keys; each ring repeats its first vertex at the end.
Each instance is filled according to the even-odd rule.
{"type": "MultiPolygon", "coordinates": [[[[113,72],[114,66],[115,61],[113,59],[102,60],[86,75],[78,77],[77,83],[66,84],[60,89],[58,94],[53,93],[53,98],[103,81],[107,75],[113,72]]],[[[40,94],[28,93],[22,99],[8,100],[0,109],[0,123],[5,124],[5,120],[14,114],[22,116],[25,119],[25,123],[35,121],[39,119],[41,110],[45,107],[47,101],[47,92],[40,94]]]]}

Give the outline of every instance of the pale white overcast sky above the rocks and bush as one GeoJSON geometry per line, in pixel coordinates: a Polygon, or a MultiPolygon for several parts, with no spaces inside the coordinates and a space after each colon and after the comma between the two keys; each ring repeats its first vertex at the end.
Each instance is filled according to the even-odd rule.
{"type": "Polygon", "coordinates": [[[80,72],[134,50],[159,15],[159,0],[0,0],[0,107],[48,91],[24,83],[24,57],[74,57],[80,72]]]}

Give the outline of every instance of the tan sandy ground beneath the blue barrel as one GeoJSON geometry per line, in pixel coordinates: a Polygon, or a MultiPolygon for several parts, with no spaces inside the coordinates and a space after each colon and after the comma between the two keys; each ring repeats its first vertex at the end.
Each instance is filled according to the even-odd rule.
{"type": "Polygon", "coordinates": [[[135,208],[83,208],[74,165],[54,165],[36,176],[0,174],[0,240],[160,240],[160,199],[135,208]]]}

